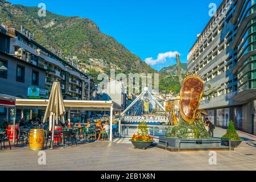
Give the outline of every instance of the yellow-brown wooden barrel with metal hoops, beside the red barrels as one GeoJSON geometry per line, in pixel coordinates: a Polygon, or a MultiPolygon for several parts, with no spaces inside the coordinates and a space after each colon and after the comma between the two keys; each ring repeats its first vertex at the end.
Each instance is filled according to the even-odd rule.
{"type": "Polygon", "coordinates": [[[43,150],[44,148],[44,129],[30,130],[30,149],[43,150]]]}

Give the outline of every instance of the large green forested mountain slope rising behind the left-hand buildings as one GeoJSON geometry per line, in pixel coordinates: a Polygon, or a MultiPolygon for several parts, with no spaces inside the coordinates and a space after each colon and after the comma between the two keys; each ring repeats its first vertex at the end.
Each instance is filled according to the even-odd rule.
{"type": "MultiPolygon", "coordinates": [[[[38,16],[38,7],[12,5],[0,0],[0,22],[20,30],[23,25],[35,34],[36,42],[46,48],[55,46],[65,56],[79,59],[102,59],[115,65],[123,73],[155,72],[138,56],[131,53],[114,38],[103,34],[92,20],[77,16],[62,16],[47,11],[46,17],[38,16]]],[[[82,63],[81,63],[82,64],[82,63]]]]}

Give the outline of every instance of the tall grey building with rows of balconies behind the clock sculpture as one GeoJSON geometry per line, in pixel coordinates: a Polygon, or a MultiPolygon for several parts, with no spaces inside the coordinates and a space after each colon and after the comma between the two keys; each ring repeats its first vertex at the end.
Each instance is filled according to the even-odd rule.
{"type": "Polygon", "coordinates": [[[222,1],[188,55],[188,71],[205,85],[221,86],[216,96],[203,98],[201,109],[216,126],[226,127],[232,120],[251,134],[256,134],[255,3],[222,1]]]}

